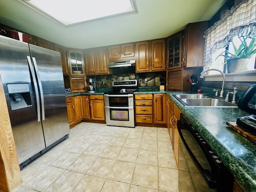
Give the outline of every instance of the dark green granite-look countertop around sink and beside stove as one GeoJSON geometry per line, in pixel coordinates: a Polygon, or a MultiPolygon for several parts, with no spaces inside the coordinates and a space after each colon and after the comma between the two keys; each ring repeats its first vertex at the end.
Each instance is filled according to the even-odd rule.
{"type": "MultiPolygon", "coordinates": [[[[94,93],[83,92],[66,96],[104,94],[103,90],[94,93]]],[[[224,165],[248,192],[256,192],[256,144],[238,134],[226,122],[236,122],[241,116],[250,115],[239,108],[183,106],[172,94],[182,91],[159,91],[157,88],[138,89],[134,94],[166,93],[180,111],[201,134],[209,146],[218,154],[224,165]]]]}

